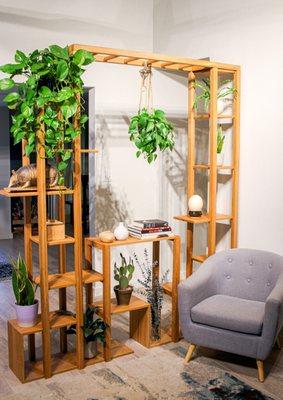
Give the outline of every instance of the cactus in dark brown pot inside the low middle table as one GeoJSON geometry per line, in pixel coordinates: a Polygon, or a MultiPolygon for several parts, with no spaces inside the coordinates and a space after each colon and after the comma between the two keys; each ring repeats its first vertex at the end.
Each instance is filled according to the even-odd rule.
{"type": "Polygon", "coordinates": [[[114,264],[114,279],[119,282],[118,285],[114,286],[114,292],[118,305],[128,305],[133,292],[133,286],[130,286],[129,283],[133,277],[135,267],[131,258],[127,262],[122,253],[120,253],[120,257],[122,260],[121,266],[117,267],[116,262],[114,264]]]}

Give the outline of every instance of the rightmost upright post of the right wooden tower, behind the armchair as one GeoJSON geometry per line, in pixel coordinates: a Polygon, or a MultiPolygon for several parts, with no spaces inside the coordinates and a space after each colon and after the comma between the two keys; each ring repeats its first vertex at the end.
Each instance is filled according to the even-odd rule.
{"type": "Polygon", "coordinates": [[[239,191],[239,142],[240,142],[240,70],[234,72],[234,124],[233,124],[233,181],[232,181],[232,221],[231,247],[238,244],[238,191],[239,191]]]}

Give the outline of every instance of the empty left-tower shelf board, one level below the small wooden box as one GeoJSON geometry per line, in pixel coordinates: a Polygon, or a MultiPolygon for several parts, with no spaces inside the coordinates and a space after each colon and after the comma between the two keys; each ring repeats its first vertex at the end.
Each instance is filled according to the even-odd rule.
{"type": "MultiPolygon", "coordinates": [[[[83,270],[83,283],[102,282],[103,276],[100,272],[93,270],[83,270]]],[[[34,282],[40,285],[40,276],[36,276],[34,282]]],[[[65,274],[50,274],[48,275],[49,289],[61,289],[64,287],[75,286],[75,272],[65,272],[65,274]]]]}

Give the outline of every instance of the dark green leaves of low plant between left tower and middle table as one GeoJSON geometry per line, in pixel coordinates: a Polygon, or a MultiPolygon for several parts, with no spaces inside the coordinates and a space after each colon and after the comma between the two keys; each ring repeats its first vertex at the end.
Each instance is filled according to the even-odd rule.
{"type": "MultiPolygon", "coordinates": [[[[107,325],[101,317],[97,315],[98,307],[89,306],[84,314],[84,325],[82,330],[86,343],[94,342],[99,340],[101,343],[105,343],[105,331],[107,325]]],[[[66,333],[75,334],[77,332],[77,326],[70,326],[66,333]]]]}

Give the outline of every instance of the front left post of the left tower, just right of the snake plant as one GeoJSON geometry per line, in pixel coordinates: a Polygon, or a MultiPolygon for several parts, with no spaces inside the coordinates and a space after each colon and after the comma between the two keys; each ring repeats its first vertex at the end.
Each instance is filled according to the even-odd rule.
{"type": "MultiPolygon", "coordinates": [[[[39,118],[43,111],[40,112],[39,118]]],[[[39,234],[39,267],[40,267],[40,292],[41,292],[41,320],[44,376],[51,376],[51,348],[50,348],[50,322],[49,322],[49,292],[48,292],[48,253],[46,231],[46,177],[45,177],[45,150],[44,150],[44,125],[41,124],[37,132],[37,191],[38,191],[38,234],[39,234]]]]}

